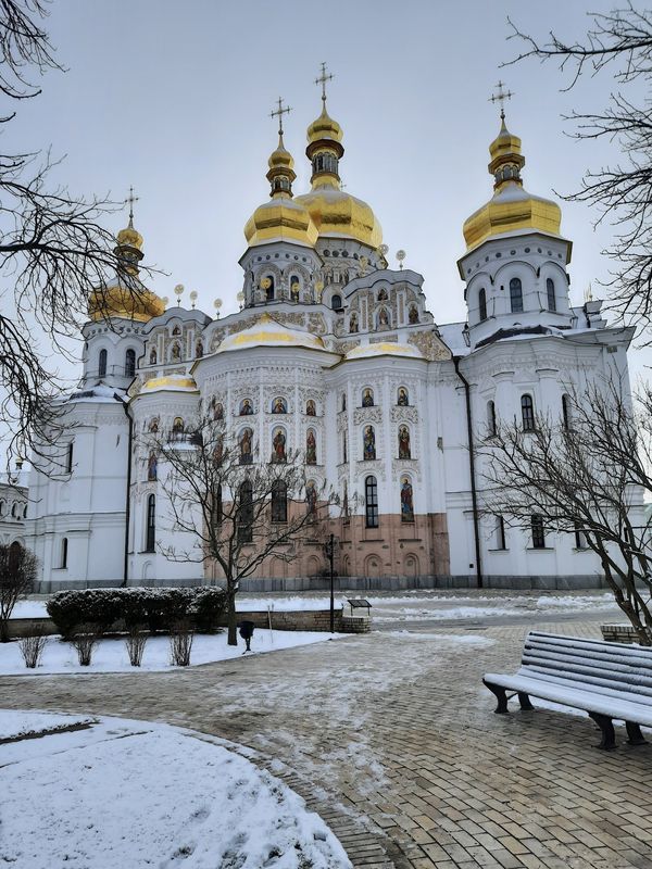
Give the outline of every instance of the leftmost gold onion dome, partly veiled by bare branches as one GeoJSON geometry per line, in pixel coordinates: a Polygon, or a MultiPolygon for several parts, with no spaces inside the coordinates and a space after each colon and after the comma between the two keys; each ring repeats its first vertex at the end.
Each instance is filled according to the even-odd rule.
{"type": "Polygon", "coordinates": [[[88,316],[93,320],[122,317],[148,323],[164,313],[165,303],[138,277],[138,264],[143,256],[142,236],[134,228],[133,213],[128,226],[117,234],[116,241],[113,249],[117,259],[115,284],[91,291],[88,316]]]}

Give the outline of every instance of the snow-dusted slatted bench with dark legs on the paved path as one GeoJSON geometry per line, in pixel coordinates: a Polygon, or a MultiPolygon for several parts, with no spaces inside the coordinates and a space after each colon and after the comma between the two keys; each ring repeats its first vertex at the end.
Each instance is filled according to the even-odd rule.
{"type": "Polygon", "coordinates": [[[518,672],[482,682],[499,714],[516,694],[523,710],[535,708],[530,696],[584,709],[602,731],[599,748],[615,748],[614,720],[625,721],[630,745],[645,742],[640,725],[652,727],[652,648],[530,631],[518,672]]]}

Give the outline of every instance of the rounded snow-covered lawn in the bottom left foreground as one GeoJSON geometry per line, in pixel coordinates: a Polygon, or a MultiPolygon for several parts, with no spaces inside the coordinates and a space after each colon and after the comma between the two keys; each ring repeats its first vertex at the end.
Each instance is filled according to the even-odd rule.
{"type": "MultiPolygon", "coordinates": [[[[0,728],[21,727],[13,713],[0,728]]],[[[33,713],[25,713],[25,727],[33,713]]],[[[53,726],[64,716],[51,718],[53,726]]],[[[75,719],[71,717],[71,721],[75,719]]],[[[324,821],[215,740],[103,718],[2,746],[0,864],[12,869],[349,869],[324,821]]]]}

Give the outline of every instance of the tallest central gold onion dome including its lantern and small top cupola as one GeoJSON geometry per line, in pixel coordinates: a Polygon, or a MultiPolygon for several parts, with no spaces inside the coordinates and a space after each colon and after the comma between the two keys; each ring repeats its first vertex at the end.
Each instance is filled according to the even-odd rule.
{"type": "Polygon", "coordinates": [[[312,163],[312,190],[294,201],[309,210],[319,236],[353,238],[376,249],[383,243],[383,229],[366,202],[341,189],[342,128],[326,111],[325,92],[322,102],[322,114],[308,128],[305,154],[312,163]]]}

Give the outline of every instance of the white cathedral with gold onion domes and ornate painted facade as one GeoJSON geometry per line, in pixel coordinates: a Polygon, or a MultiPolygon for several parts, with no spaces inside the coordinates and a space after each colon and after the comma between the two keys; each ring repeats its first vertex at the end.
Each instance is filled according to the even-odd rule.
{"type": "MultiPolygon", "coordinates": [[[[209,406],[243,453],[298,452],[309,486],[337,493],[329,525],[343,588],[600,584],[581,534],[482,515],[474,449],[497,418],[527,430],[598,377],[627,383],[631,330],[610,327],[599,301],[570,306],[560,206],[524,188],[504,112],[489,146],[493,192],[463,225],[454,291],[466,320],[438,323],[423,276],[401,252],[389,268],[377,216],[342,189],[326,78],[308,127],[308,192],[292,188],[279,101],[269,198],[244,224],[237,313],[185,307],[180,287],[176,305],[150,291],[136,299],[120,275],[91,294],[79,386],[61,398],[64,459],[29,480],[24,534],[41,591],[220,581],[211,565],[163,554],[165,494],[138,446],[142,432],[183,437],[209,406]]],[[[116,253],[137,274],[133,212],[116,253]]],[[[267,559],[247,588],[318,588],[322,543],[267,559]]]]}

